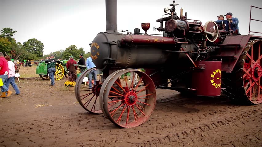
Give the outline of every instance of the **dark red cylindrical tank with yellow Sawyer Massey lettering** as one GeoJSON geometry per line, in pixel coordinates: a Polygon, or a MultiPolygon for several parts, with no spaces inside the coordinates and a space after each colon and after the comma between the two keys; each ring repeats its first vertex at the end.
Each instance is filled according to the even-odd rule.
{"type": "Polygon", "coordinates": [[[221,62],[197,61],[197,66],[205,67],[204,70],[192,72],[192,88],[196,88],[197,96],[221,95],[221,62]]]}

